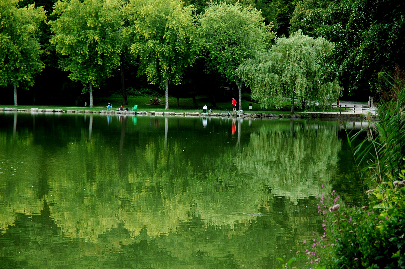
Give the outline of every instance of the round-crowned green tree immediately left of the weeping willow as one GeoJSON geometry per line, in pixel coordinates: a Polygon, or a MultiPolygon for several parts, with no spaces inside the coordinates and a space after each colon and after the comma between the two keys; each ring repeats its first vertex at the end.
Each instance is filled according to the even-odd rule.
{"type": "Polygon", "coordinates": [[[265,51],[274,33],[264,25],[260,11],[243,7],[238,2],[227,4],[211,1],[198,18],[196,47],[207,61],[207,72],[216,71],[239,89],[239,110],[242,109],[242,81],[235,70],[255,51],[265,51]]]}

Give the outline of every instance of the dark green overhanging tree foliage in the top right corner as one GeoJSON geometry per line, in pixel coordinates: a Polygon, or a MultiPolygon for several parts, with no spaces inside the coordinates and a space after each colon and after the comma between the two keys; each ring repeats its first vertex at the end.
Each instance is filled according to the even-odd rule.
{"type": "Polygon", "coordinates": [[[338,75],[351,94],[375,94],[384,88],[384,72],[395,63],[404,68],[404,14],[401,0],[301,0],[290,30],[335,42],[325,74],[338,75]]]}

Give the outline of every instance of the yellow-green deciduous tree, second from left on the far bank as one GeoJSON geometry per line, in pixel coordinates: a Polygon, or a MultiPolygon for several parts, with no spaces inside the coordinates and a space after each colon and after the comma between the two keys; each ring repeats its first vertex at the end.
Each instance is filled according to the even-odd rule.
{"type": "Polygon", "coordinates": [[[90,107],[93,86],[99,87],[120,64],[122,47],[118,0],[63,0],[54,6],[50,21],[55,34],[51,43],[66,56],[60,67],[70,71],[70,79],[89,85],[90,107]]]}

